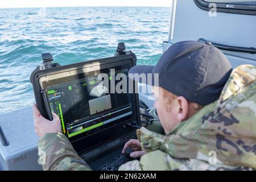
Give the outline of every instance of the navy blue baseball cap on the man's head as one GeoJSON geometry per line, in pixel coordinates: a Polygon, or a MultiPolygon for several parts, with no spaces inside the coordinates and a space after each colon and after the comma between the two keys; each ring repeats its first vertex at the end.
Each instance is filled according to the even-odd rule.
{"type": "MultiPolygon", "coordinates": [[[[138,65],[129,73],[158,73],[159,82],[144,82],[160,86],[188,101],[208,105],[220,97],[232,66],[226,56],[209,43],[185,41],[173,44],[155,66],[138,65]]],[[[142,82],[141,79],[135,81],[142,82]]]]}

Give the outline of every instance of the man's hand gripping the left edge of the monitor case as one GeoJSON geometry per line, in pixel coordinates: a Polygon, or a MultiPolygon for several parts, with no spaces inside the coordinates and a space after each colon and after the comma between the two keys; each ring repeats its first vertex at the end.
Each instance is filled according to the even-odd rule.
{"type": "Polygon", "coordinates": [[[33,114],[34,114],[34,125],[35,125],[35,133],[40,137],[44,137],[47,133],[59,133],[61,132],[60,119],[57,114],[52,114],[53,120],[49,121],[44,118],[38,107],[33,105],[33,114]]]}

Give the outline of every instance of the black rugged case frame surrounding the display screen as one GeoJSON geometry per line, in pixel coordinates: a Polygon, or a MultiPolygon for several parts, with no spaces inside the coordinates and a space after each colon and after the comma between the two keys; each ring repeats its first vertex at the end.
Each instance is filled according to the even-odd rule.
{"type": "MultiPolygon", "coordinates": [[[[45,53],[42,55],[42,57],[43,57],[43,64],[39,65],[35,69],[35,71],[31,73],[30,82],[34,89],[36,105],[40,113],[43,115],[43,117],[49,120],[52,120],[51,119],[52,114],[46,109],[46,105],[48,104],[49,106],[49,102],[48,100],[45,102],[46,99],[44,99],[42,96],[42,89],[40,88],[40,84],[39,84],[40,77],[51,75],[54,73],[71,71],[74,69],[93,67],[93,66],[102,65],[102,64],[113,63],[113,65],[115,65],[115,63],[119,63],[119,61],[125,62],[127,60],[131,60],[132,66],[135,66],[137,62],[137,57],[133,52],[125,51],[124,43],[118,44],[117,50],[115,51],[115,54],[113,57],[106,57],[103,59],[96,59],[96,60],[90,60],[90,61],[82,61],[80,63],[69,64],[64,66],[61,66],[58,63],[52,63],[53,58],[50,53],[45,53]]],[[[137,84],[135,84],[134,82],[134,91],[137,91],[137,90],[138,90],[137,84]]],[[[136,105],[135,118],[137,120],[137,126],[141,126],[141,119],[139,115],[138,93],[135,93],[134,97],[135,97],[135,105],[136,105]]],[[[127,123],[129,123],[129,121],[127,123]]],[[[89,135],[89,137],[82,137],[81,139],[71,141],[71,143],[80,156],[88,153],[88,156],[84,156],[83,158],[92,159],[94,158],[94,155],[104,154],[104,152],[108,151],[109,148],[113,148],[118,144],[125,142],[127,140],[127,137],[131,137],[136,134],[137,128],[126,127],[127,123],[120,123],[117,126],[110,127],[110,129],[108,130],[103,130],[100,133],[89,135]],[[100,138],[102,137],[108,138],[108,139],[102,142],[98,142],[96,144],[95,141],[100,140],[100,138]],[[90,153],[92,153],[92,156],[90,156],[90,153]]]]}

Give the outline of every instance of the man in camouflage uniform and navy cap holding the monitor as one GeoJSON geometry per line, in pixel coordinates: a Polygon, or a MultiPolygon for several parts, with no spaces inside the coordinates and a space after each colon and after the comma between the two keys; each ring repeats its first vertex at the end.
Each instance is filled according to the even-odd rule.
{"type": "MultiPolygon", "coordinates": [[[[256,68],[252,65],[241,65],[234,69],[230,75],[229,66],[225,67],[225,65],[228,65],[228,60],[224,58],[225,56],[220,51],[207,44],[202,46],[201,43],[186,42],[174,44],[169,48],[159,60],[154,71],[157,71],[157,68],[166,60],[166,57],[172,57],[173,51],[176,52],[176,55],[167,61],[175,61],[175,63],[171,63],[171,66],[175,67],[175,64],[184,61],[184,59],[191,60],[189,63],[187,61],[187,64],[189,64],[191,69],[197,69],[196,75],[199,75],[199,77],[196,76],[194,78],[195,82],[192,85],[194,84],[195,87],[196,82],[201,83],[200,93],[197,92],[198,89],[195,89],[196,92],[194,93],[197,94],[192,94],[195,98],[186,95],[185,92],[188,92],[186,90],[188,88],[185,88],[185,86],[188,86],[188,83],[177,81],[179,85],[184,86],[181,89],[181,92],[184,92],[184,94],[177,94],[180,88],[179,85],[175,85],[175,81],[170,78],[171,76],[169,80],[173,86],[172,88],[168,88],[168,84],[166,85],[165,81],[161,83],[161,78],[164,77],[164,74],[172,75],[177,74],[177,72],[174,72],[172,68],[168,68],[167,73],[159,71],[159,90],[175,94],[172,98],[173,102],[178,101],[176,107],[171,107],[172,110],[166,109],[167,115],[168,112],[177,115],[177,117],[174,117],[172,114],[169,115],[171,117],[168,122],[175,124],[170,125],[170,123],[167,123],[167,119],[164,116],[166,113],[162,113],[164,111],[159,110],[161,108],[159,105],[164,105],[164,102],[160,100],[163,100],[163,98],[168,100],[167,97],[164,97],[164,94],[159,94],[159,103],[156,104],[156,108],[167,135],[153,133],[142,127],[137,131],[137,135],[142,150],[146,154],[140,160],[133,160],[123,164],[119,170],[255,169],[256,68]],[[175,51],[175,48],[179,49],[175,51]],[[179,50],[180,52],[177,52],[179,50]],[[211,51],[214,54],[211,55],[211,51]],[[201,54],[202,52],[203,54],[201,54]],[[216,54],[218,59],[220,59],[219,61],[216,59],[216,54]],[[199,59],[197,59],[198,57],[199,59]],[[206,57],[208,60],[205,59],[206,57]],[[195,61],[196,59],[197,61],[195,61]],[[209,62],[209,59],[212,62],[205,64],[205,62],[209,62]],[[201,63],[200,65],[193,65],[194,61],[196,63],[200,61],[201,63]],[[205,69],[210,64],[216,65],[214,71],[217,74],[217,80],[219,80],[217,82],[212,81],[212,79],[209,82],[205,82],[212,72],[212,69],[205,69]],[[207,74],[201,72],[202,65],[205,65],[203,68],[207,70],[207,74]],[[224,74],[221,75],[221,71],[218,72],[218,68],[221,71],[224,70],[224,74]],[[172,71],[170,71],[171,69],[172,71]],[[198,81],[200,77],[203,77],[204,81],[198,81]],[[225,80],[227,79],[225,77],[228,78],[228,81],[225,80]],[[221,78],[223,79],[221,80],[221,78]],[[203,82],[204,84],[202,84],[203,82]],[[212,101],[214,98],[208,99],[206,93],[208,93],[208,97],[214,97],[217,93],[214,89],[209,91],[209,86],[214,85],[213,88],[219,88],[223,83],[225,86],[222,86],[224,88],[221,88],[222,92],[218,94],[218,99],[215,98],[214,101],[212,101]],[[176,88],[174,88],[175,86],[176,88]],[[204,88],[207,89],[205,90],[204,88]],[[209,103],[206,104],[207,102],[209,103]],[[185,105],[186,103],[187,105],[185,105]],[[205,106],[203,109],[195,111],[193,106],[189,106],[191,104],[195,107],[205,106]],[[175,112],[175,108],[178,109],[177,112],[175,112]],[[194,111],[191,111],[193,109],[194,111]],[[190,115],[189,112],[191,112],[190,115]]],[[[162,64],[163,66],[168,67],[168,63],[162,64]]],[[[183,67],[186,66],[183,65],[183,67]]],[[[184,69],[183,67],[179,65],[180,69],[184,69]]],[[[189,73],[192,74],[193,72],[189,73]]],[[[179,77],[179,75],[177,76],[179,77]]],[[[175,80],[179,80],[179,78],[176,77],[175,80]]],[[[189,90],[189,92],[192,91],[189,90]]],[[[55,118],[53,122],[47,121],[40,115],[36,106],[34,106],[35,130],[39,137],[41,137],[38,145],[39,154],[45,152],[43,157],[46,157],[43,169],[90,170],[90,167],[84,160],[76,154],[65,135],[56,132],[60,131],[58,128],[60,121],[56,115],[53,115],[53,117],[55,118]]]]}

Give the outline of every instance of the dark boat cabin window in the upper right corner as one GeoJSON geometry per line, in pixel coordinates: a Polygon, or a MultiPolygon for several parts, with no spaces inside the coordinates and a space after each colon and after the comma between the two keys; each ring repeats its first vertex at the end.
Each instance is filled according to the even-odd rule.
{"type": "Polygon", "coordinates": [[[217,12],[256,15],[256,0],[194,0],[205,11],[213,8],[217,12]]]}

